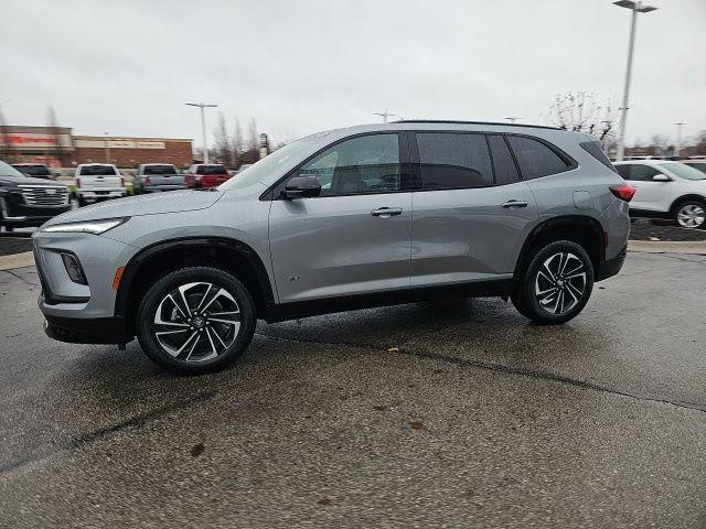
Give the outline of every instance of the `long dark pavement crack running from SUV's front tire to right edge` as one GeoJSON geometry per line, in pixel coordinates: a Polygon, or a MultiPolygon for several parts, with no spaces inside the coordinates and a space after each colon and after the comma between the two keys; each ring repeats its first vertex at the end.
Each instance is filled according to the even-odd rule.
{"type": "MultiPolygon", "coordinates": [[[[282,341],[282,342],[297,342],[297,343],[301,343],[301,344],[315,344],[315,345],[332,345],[332,346],[346,346],[346,347],[359,347],[359,348],[367,348],[367,349],[372,349],[375,350],[377,353],[389,353],[386,348],[383,347],[375,347],[373,345],[367,345],[367,344],[354,344],[354,343],[346,343],[346,342],[315,342],[315,341],[306,341],[306,339],[295,339],[295,338],[281,338],[278,336],[270,336],[267,334],[263,334],[263,333],[255,333],[259,336],[263,336],[265,338],[269,338],[269,339],[274,339],[274,341],[282,341]]],[[[410,341],[411,343],[415,343],[416,341],[410,341]]],[[[408,342],[409,343],[409,342],[408,342]]],[[[512,366],[507,366],[504,364],[494,364],[491,361],[483,361],[483,360],[478,360],[478,359],[472,359],[472,358],[459,358],[456,356],[447,356],[447,355],[438,355],[438,354],[434,354],[434,353],[422,353],[422,352],[417,352],[417,350],[409,350],[409,349],[405,349],[403,347],[399,347],[399,349],[397,352],[395,352],[394,354],[396,355],[406,355],[406,356],[414,356],[414,357],[418,357],[418,358],[426,358],[426,359],[431,359],[431,360],[441,360],[445,361],[447,364],[452,364],[452,365],[457,365],[457,366],[461,366],[461,367],[474,367],[478,369],[485,369],[485,370],[490,370],[490,371],[495,371],[495,373],[504,373],[507,375],[516,375],[516,376],[522,376],[522,377],[526,377],[526,378],[535,378],[535,379],[541,379],[541,380],[547,380],[547,381],[552,381],[552,382],[559,382],[559,384],[565,384],[568,386],[574,386],[576,388],[581,388],[581,389],[590,389],[593,391],[600,391],[603,393],[609,393],[609,395],[616,395],[619,397],[627,397],[633,400],[639,400],[639,401],[643,401],[643,402],[655,402],[655,403],[661,403],[661,404],[670,404],[670,406],[674,406],[676,408],[682,408],[682,409],[686,409],[686,410],[695,410],[695,411],[702,411],[702,412],[706,412],[706,404],[699,404],[699,403],[695,403],[695,402],[677,402],[677,401],[673,401],[673,400],[668,400],[668,399],[660,399],[660,398],[655,398],[655,397],[645,397],[642,395],[635,395],[635,393],[630,393],[628,391],[622,391],[620,389],[613,389],[613,388],[609,388],[607,386],[601,386],[599,384],[595,384],[595,382],[589,382],[588,380],[580,380],[577,378],[571,378],[571,377],[567,377],[564,375],[558,375],[555,373],[549,373],[549,371],[542,371],[542,370],[536,370],[536,369],[524,369],[521,367],[512,367],[512,366]]]]}

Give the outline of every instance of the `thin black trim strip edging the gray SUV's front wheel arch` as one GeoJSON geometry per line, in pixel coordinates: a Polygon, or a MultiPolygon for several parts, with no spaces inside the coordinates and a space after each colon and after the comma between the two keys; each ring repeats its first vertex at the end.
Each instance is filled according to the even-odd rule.
{"type": "Polygon", "coordinates": [[[260,293],[265,305],[271,305],[275,303],[275,296],[272,293],[272,285],[267,274],[267,269],[263,263],[263,260],[257,252],[247,244],[232,239],[229,237],[211,237],[211,236],[195,236],[195,237],[179,237],[174,239],[161,240],[146,248],[142,248],[137,252],[125,266],[125,272],[120,280],[120,287],[115,299],[115,315],[125,316],[129,304],[129,292],[132,282],[135,281],[140,268],[150,259],[159,256],[160,253],[171,251],[179,248],[224,248],[228,250],[235,250],[240,256],[245,257],[249,264],[255,270],[260,287],[260,293]]]}

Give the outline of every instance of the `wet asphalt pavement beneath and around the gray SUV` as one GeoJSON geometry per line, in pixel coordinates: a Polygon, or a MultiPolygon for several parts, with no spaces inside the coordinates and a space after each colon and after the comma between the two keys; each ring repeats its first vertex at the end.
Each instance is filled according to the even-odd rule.
{"type": "Polygon", "coordinates": [[[706,257],[560,327],[501,300],[259,325],[226,371],[52,342],[0,271],[0,527],[704,527],[706,257]]]}

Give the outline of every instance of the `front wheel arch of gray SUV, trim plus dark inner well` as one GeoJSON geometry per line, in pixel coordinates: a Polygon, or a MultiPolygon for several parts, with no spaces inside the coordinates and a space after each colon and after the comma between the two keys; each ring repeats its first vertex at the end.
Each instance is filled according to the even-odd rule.
{"type": "Polygon", "coordinates": [[[126,264],[115,300],[115,315],[135,333],[135,312],[141,294],[153,281],[185,266],[213,266],[233,273],[248,289],[257,316],[264,319],[275,302],[267,269],[247,244],[227,237],[182,237],[148,246],[126,264]]]}

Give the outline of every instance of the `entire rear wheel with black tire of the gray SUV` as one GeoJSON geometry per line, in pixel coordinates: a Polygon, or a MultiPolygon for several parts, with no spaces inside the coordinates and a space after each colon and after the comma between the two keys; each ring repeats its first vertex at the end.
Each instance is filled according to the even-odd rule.
{"type": "Polygon", "coordinates": [[[586,250],[557,240],[536,250],[511,299],[533,322],[556,325],[581,312],[592,290],[593,264],[586,250]]]}

